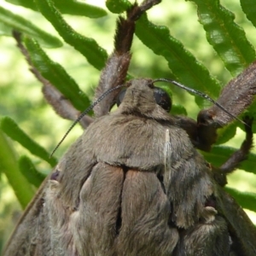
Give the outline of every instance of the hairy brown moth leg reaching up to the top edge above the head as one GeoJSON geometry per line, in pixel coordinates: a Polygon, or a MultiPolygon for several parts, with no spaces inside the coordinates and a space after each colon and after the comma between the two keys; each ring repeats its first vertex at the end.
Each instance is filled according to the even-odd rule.
{"type": "MultiPolygon", "coordinates": [[[[102,96],[102,93],[106,90],[125,83],[127,70],[131,61],[130,49],[135,32],[136,20],[157,3],[160,3],[160,0],[144,1],[141,5],[134,3],[131,9],[126,11],[126,19],[119,16],[114,36],[113,54],[109,56],[106,67],[102,70],[101,79],[96,88],[95,99],[102,96]]],[[[94,108],[96,117],[100,117],[109,112],[120,90],[121,89],[114,90],[96,105],[94,108]]]]}

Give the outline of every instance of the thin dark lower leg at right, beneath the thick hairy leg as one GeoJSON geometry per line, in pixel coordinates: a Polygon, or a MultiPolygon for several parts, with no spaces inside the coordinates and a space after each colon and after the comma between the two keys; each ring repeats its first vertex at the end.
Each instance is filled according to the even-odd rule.
{"type": "Polygon", "coordinates": [[[250,149],[253,147],[253,118],[246,116],[243,121],[245,122],[246,138],[241,143],[241,147],[236,150],[234,154],[219,168],[213,167],[213,176],[218,184],[223,186],[227,183],[227,174],[236,170],[241,161],[247,159],[250,149]]]}

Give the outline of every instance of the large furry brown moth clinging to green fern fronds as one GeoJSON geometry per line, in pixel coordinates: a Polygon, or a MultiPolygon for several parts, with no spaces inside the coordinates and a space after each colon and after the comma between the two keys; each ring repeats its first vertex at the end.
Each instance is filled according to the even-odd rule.
{"type": "Polygon", "coordinates": [[[246,140],[220,168],[196,150],[209,150],[218,128],[253,102],[256,64],[222,91],[226,112],[213,105],[197,121],[170,115],[155,80],[125,82],[136,21],[157,3],[134,3],[119,17],[95,97],[111,92],[26,208],[4,255],[256,254],[254,225],[223,189],[252,147],[252,119],[244,119],[246,140]]]}

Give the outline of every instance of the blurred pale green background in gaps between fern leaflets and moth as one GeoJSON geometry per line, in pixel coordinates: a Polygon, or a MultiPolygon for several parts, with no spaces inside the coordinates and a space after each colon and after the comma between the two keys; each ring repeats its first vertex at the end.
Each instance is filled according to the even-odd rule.
{"type": "MultiPolygon", "coordinates": [[[[108,54],[110,54],[113,50],[113,35],[117,15],[108,11],[103,0],[87,1],[86,3],[105,9],[108,15],[98,19],[64,15],[65,20],[77,32],[87,37],[95,38],[96,42],[104,49],[107,49],[108,54]]],[[[235,0],[223,0],[221,4],[236,14],[236,23],[244,29],[248,40],[255,47],[255,27],[247,20],[246,15],[241,10],[240,3],[235,0]]],[[[1,0],[0,6],[11,10],[17,15],[21,15],[27,20],[31,20],[34,25],[60,38],[49,21],[45,20],[43,15],[38,12],[4,2],[3,0],[1,0]]],[[[160,5],[148,11],[148,20],[158,25],[168,26],[172,36],[178,38],[185,48],[189,49],[221,84],[226,84],[232,78],[219,56],[212,49],[212,46],[207,43],[205,31],[198,22],[194,3],[183,0],[163,1],[160,5]]],[[[1,24],[0,26],[0,31],[3,34],[0,37],[0,117],[9,116],[14,119],[20,128],[26,131],[26,134],[30,135],[44,148],[47,148],[50,153],[72,124],[72,121],[61,119],[44,100],[41,92],[42,85],[29,72],[24,56],[20,54],[20,50],[15,46],[14,38],[4,36],[2,26],[4,25],[1,24]]],[[[59,62],[65,67],[67,73],[76,80],[85,94],[92,99],[100,72],[95,67],[92,67],[83,55],[68,44],[64,43],[61,48],[44,48],[44,50],[53,61],[59,62]]],[[[134,38],[131,51],[132,61],[129,73],[132,76],[172,78],[172,73],[167,66],[166,60],[154,55],[137,37],[134,38]]],[[[189,84],[186,85],[189,86],[189,84]]],[[[173,102],[184,105],[188,115],[196,118],[199,108],[195,104],[194,96],[190,96],[177,88],[172,87],[172,90],[173,102]]],[[[65,142],[61,144],[61,147],[55,153],[55,157],[60,158],[82,132],[83,130],[77,125],[65,142]]],[[[239,148],[243,137],[243,131],[237,129],[236,137],[226,144],[239,148]]],[[[7,140],[17,158],[26,154],[37,166],[39,172],[44,174],[50,172],[51,167],[44,160],[30,154],[26,148],[20,146],[20,143],[16,143],[8,137],[7,140]]],[[[254,148],[253,153],[255,153],[254,148]]],[[[0,162],[0,252],[22,211],[3,171],[0,162]]],[[[256,193],[256,178],[253,173],[237,171],[230,175],[229,184],[241,191],[256,193]]],[[[24,186],[22,183],[19,185],[21,187],[24,186]]],[[[36,191],[36,188],[32,189],[36,191]]],[[[256,223],[255,213],[247,212],[253,222],[256,223]]]]}

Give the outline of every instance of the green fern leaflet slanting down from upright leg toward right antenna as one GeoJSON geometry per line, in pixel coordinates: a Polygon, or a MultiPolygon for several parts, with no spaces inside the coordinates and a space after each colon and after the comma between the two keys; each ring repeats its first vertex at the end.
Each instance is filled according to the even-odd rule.
{"type": "MultiPolygon", "coordinates": [[[[183,84],[206,92],[209,96],[218,96],[220,85],[207,68],[195,59],[188,49],[176,38],[170,35],[166,26],[155,26],[149,22],[146,15],[137,21],[136,35],[143,44],[152,49],[155,54],[162,55],[168,61],[172,73],[183,84]]],[[[202,107],[202,98],[196,97],[202,107]]]]}

